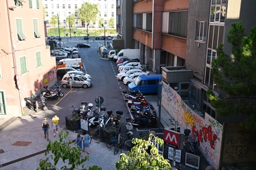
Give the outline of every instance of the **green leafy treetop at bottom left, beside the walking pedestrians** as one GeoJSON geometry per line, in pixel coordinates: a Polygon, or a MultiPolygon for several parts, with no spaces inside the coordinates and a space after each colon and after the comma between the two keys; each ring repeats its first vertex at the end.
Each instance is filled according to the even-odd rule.
{"type": "MultiPolygon", "coordinates": [[[[71,147],[70,143],[72,143],[72,141],[65,142],[64,139],[66,139],[66,137],[68,137],[68,131],[61,131],[61,133],[59,133],[59,141],[49,141],[45,152],[46,159],[40,159],[40,167],[38,167],[38,170],[57,169],[55,166],[59,160],[63,160],[64,163],[68,161],[68,165],[71,166],[67,167],[65,165],[61,167],[61,169],[79,169],[79,166],[81,165],[82,168],[85,169],[84,163],[89,159],[89,156],[82,158],[81,148],[79,148],[79,146],[71,147]],[[52,153],[51,155],[49,155],[50,152],[52,153]],[[51,160],[54,161],[54,165],[52,165],[51,160]]],[[[89,167],[89,169],[100,170],[102,168],[93,165],[92,167],[89,167]]]]}

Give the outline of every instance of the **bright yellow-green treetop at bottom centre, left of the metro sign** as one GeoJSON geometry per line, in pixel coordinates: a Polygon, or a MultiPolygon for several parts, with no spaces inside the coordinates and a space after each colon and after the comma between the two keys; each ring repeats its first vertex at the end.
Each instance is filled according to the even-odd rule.
{"type": "Polygon", "coordinates": [[[162,139],[150,134],[147,140],[133,138],[134,147],[126,154],[120,154],[120,160],[115,163],[118,170],[133,169],[171,169],[169,160],[158,154],[155,142],[160,146],[164,143],[162,139]]]}

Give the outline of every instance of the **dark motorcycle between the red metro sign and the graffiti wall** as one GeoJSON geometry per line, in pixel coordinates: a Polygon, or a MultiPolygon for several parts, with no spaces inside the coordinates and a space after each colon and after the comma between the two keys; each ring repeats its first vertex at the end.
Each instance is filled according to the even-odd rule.
{"type": "Polygon", "coordinates": [[[190,132],[190,129],[184,129],[184,148],[195,154],[197,152],[197,138],[193,139],[190,132]]]}

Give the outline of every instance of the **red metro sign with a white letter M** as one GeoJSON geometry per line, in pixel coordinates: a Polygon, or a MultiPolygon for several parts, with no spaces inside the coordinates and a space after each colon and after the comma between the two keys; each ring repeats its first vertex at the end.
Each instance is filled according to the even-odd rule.
{"type": "Polygon", "coordinates": [[[177,150],[183,149],[183,139],[180,132],[172,131],[170,129],[164,130],[164,142],[166,146],[175,148],[177,150]]]}

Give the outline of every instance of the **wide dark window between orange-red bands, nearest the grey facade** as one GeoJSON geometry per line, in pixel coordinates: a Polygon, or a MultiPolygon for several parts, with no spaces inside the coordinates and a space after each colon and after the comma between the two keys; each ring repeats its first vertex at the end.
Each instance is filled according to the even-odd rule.
{"type": "Polygon", "coordinates": [[[188,31],[188,11],[169,12],[168,33],[186,38],[188,31]]]}

